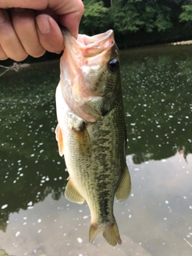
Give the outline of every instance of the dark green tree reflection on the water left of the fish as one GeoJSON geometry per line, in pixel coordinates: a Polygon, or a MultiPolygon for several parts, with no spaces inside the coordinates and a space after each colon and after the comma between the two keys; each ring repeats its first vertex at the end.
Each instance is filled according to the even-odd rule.
{"type": "Polygon", "coordinates": [[[54,91],[57,63],[30,66],[0,78],[0,226],[6,230],[9,214],[27,209],[52,193],[58,199],[66,173],[54,138],[54,91]],[[51,71],[51,72],[50,72],[51,71]],[[1,208],[1,206],[0,206],[1,208]]]}

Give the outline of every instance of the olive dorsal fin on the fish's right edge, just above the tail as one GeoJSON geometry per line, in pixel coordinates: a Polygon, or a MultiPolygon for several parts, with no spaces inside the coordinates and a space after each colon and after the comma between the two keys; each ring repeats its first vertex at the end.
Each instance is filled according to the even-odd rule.
{"type": "Polygon", "coordinates": [[[123,171],[122,179],[118,186],[118,190],[116,191],[116,194],[115,194],[118,201],[126,200],[126,198],[128,198],[130,195],[130,190],[131,190],[130,172],[126,166],[123,171]]]}

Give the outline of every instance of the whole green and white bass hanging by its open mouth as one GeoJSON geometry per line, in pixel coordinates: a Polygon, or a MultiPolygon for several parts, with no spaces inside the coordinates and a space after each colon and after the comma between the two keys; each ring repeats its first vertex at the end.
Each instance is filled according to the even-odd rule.
{"type": "Polygon", "coordinates": [[[65,50],[56,89],[58,152],[69,172],[65,196],[90,208],[89,241],[98,232],[111,246],[122,240],[114,218],[114,196],[130,195],[126,165],[119,50],[114,31],[75,39],[62,29],[65,50]]]}

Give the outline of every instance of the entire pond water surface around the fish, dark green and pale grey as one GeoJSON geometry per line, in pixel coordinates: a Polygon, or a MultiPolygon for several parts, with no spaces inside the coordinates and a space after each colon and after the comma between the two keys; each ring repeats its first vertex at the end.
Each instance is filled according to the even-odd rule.
{"type": "Polygon", "coordinates": [[[0,77],[0,252],[192,255],[192,47],[122,52],[132,192],[114,202],[122,237],[115,248],[102,233],[88,242],[86,203],[63,195],[68,174],[54,136],[58,79],[58,62],[0,77]]]}

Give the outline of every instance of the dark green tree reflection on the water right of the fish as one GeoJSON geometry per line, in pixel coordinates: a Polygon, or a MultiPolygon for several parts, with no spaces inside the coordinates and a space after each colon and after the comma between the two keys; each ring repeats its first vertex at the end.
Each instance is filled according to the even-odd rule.
{"type": "Polygon", "coordinates": [[[123,54],[122,83],[134,162],[192,153],[192,47],[159,46],[123,54]]]}

